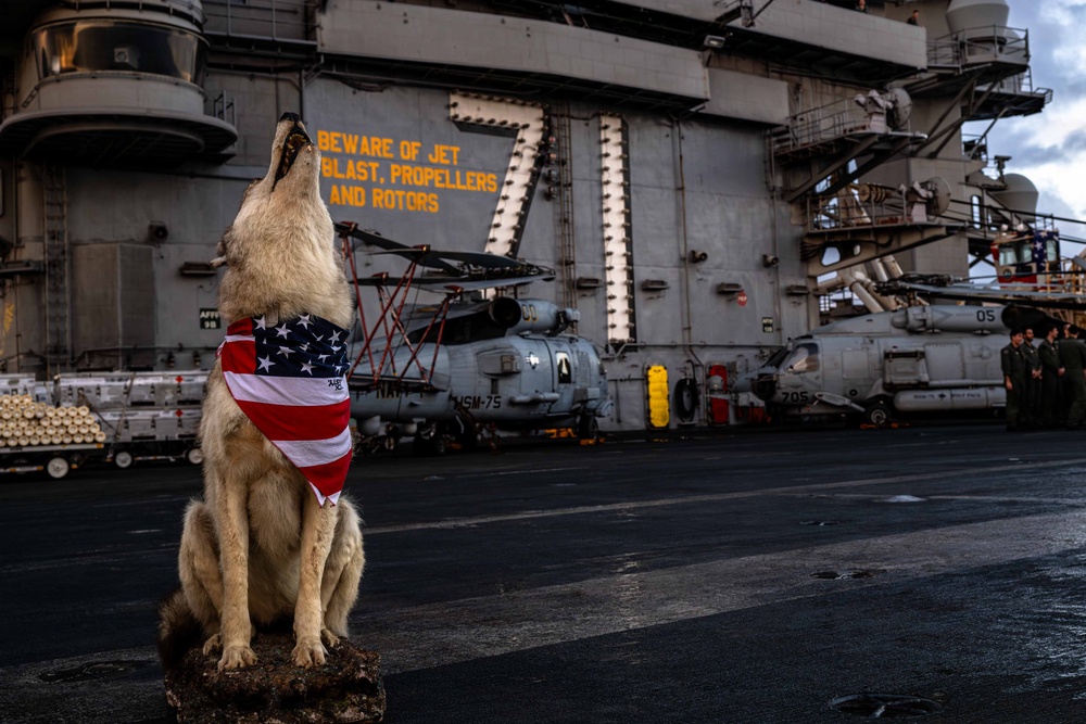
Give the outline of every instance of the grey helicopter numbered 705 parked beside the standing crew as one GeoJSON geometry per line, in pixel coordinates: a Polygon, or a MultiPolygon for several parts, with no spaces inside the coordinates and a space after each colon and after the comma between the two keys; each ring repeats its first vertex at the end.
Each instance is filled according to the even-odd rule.
{"type": "Polygon", "coordinates": [[[939,275],[906,275],[875,288],[925,304],[813,329],[733,391],[753,392],[782,419],[844,417],[873,425],[909,414],[1001,409],[999,351],[1008,331],[1062,329],[1071,319],[1055,316],[1059,310],[1086,310],[1086,299],[1071,290],[1006,290],[939,275]],[[940,303],[947,300],[973,305],[940,303]]]}

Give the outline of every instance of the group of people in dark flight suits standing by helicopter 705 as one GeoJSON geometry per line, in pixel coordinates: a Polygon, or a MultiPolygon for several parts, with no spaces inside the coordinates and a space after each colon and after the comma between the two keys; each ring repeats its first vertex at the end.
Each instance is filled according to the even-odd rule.
{"type": "Polygon", "coordinates": [[[1086,429],[1086,341],[1071,323],[1048,325],[1034,344],[1032,328],[1012,329],[1000,351],[1007,388],[1007,430],[1086,429]]]}

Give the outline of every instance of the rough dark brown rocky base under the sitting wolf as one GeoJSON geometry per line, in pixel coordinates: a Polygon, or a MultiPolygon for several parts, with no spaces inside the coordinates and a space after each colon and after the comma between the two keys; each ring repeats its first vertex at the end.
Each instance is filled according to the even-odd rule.
{"type": "Polygon", "coordinates": [[[328,663],[299,669],[290,633],[253,640],[258,663],[219,672],[218,656],[199,648],[166,675],[166,700],[178,724],[348,724],[384,716],[381,657],[345,639],[329,649],[328,663]]]}

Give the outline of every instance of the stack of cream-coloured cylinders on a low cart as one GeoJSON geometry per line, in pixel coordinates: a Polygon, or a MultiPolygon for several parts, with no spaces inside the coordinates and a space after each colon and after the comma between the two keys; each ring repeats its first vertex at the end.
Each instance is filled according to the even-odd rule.
{"type": "Polygon", "coordinates": [[[104,442],[105,433],[87,407],[51,407],[29,395],[0,395],[0,446],[104,442]]]}

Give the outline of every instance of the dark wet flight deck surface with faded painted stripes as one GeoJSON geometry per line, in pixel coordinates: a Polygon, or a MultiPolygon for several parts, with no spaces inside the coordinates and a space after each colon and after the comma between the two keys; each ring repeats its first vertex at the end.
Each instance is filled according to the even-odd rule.
{"type": "MultiPolygon", "coordinates": [[[[356,460],[353,640],[395,724],[847,723],[830,702],[861,693],[942,704],[917,721],[1081,722],[1084,443],[956,425],[356,460]]],[[[182,465],[0,479],[0,721],[172,721],[154,607],[200,487],[182,465]]]]}

